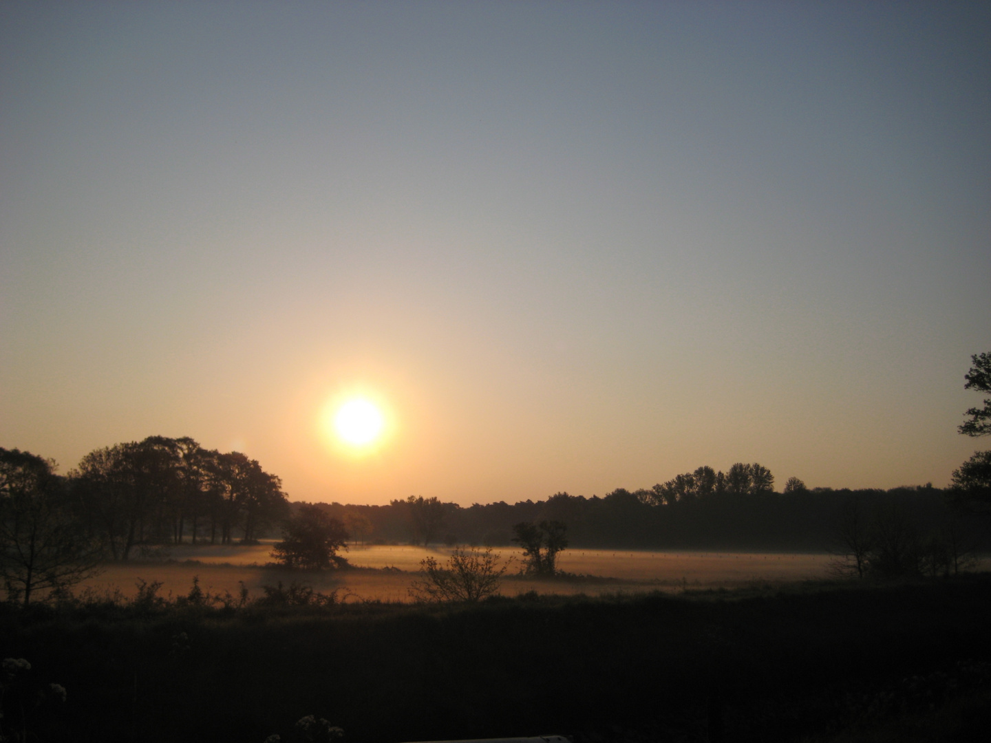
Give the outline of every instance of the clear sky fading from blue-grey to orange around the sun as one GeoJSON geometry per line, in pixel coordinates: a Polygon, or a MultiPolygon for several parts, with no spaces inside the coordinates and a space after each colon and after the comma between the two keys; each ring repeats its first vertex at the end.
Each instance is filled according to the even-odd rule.
{"type": "Polygon", "coordinates": [[[987,3],[0,2],[0,446],[61,473],[943,486],[989,289],[987,3]]]}

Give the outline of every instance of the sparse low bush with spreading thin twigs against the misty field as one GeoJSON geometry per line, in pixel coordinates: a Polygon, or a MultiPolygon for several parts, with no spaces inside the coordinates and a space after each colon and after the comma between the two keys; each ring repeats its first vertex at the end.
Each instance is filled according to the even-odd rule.
{"type": "Polygon", "coordinates": [[[420,579],[409,588],[417,601],[466,601],[475,603],[498,593],[508,564],[499,565],[492,548],[456,549],[441,568],[435,558],[420,561],[420,579]]]}

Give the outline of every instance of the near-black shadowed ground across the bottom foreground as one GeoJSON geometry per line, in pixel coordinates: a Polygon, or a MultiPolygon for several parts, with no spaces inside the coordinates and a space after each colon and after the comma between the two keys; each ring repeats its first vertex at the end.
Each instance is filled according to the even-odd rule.
{"type": "MultiPolygon", "coordinates": [[[[147,596],[146,596],[147,598],[147,596]]],[[[0,608],[0,734],[343,743],[979,740],[991,576],[475,606],[0,608]],[[57,684],[65,689],[58,699],[57,684]],[[316,738],[319,739],[319,738],[316,738]]]]}

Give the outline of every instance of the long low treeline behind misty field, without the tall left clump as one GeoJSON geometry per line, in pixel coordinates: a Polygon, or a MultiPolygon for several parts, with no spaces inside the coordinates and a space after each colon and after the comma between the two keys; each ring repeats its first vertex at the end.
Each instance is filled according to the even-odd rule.
{"type": "MultiPolygon", "coordinates": [[[[952,527],[971,547],[987,543],[982,523],[960,519],[946,493],[931,486],[712,492],[670,502],[657,502],[647,492],[619,488],[604,497],[561,492],[546,500],[477,503],[467,508],[435,500],[439,523],[432,529],[431,541],[508,545],[514,525],[555,520],[567,524],[572,548],[836,551],[843,547],[844,507],[853,502],[868,516],[897,508],[921,539],[952,527]]],[[[418,506],[409,500],[382,506],[329,503],[322,507],[349,525],[352,539],[424,541],[415,518],[418,506]]]]}

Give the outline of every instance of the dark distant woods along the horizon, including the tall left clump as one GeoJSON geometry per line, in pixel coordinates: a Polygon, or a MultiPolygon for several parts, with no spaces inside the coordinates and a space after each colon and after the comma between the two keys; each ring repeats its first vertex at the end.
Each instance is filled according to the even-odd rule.
{"type": "MultiPolygon", "coordinates": [[[[300,503],[281,481],[243,454],[221,454],[189,438],[154,436],[96,450],[59,478],[76,518],[112,559],[179,543],[251,543],[277,537],[300,503]]],[[[962,517],[948,492],[930,484],[879,489],[782,491],[758,464],[726,473],[700,467],[650,488],[600,497],[558,492],[546,500],[463,507],[408,496],[388,505],[319,503],[353,542],[506,546],[520,522],[560,521],[571,549],[845,552],[850,526],[885,520],[918,539],[991,546],[987,522],[962,517]],[[851,517],[854,521],[851,522],[851,517]],[[845,532],[845,533],[844,533],[845,532]]],[[[855,536],[855,534],[854,534],[855,536]]]]}

